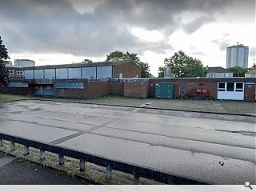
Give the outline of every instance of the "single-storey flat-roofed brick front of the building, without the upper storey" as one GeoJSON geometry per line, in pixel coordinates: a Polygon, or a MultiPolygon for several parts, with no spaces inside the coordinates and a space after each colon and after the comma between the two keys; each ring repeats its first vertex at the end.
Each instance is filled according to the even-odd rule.
{"type": "Polygon", "coordinates": [[[118,94],[131,98],[156,98],[156,86],[171,84],[170,98],[211,98],[255,101],[256,78],[86,78],[11,79],[1,93],[92,98],[118,94]]]}

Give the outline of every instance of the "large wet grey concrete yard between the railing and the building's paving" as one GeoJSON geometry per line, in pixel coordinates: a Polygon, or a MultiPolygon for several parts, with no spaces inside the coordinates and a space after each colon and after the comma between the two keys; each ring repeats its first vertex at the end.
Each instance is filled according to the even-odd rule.
{"type": "Polygon", "coordinates": [[[254,117],[46,101],[0,105],[1,133],[201,182],[256,181],[254,117]]]}

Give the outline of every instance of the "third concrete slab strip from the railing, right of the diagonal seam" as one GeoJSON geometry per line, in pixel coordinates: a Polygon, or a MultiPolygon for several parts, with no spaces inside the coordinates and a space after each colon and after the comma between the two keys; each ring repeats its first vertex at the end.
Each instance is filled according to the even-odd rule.
{"type": "Polygon", "coordinates": [[[193,141],[212,142],[228,146],[240,146],[255,149],[254,137],[203,129],[200,126],[191,128],[190,126],[168,125],[157,122],[135,122],[130,119],[122,119],[110,123],[107,127],[130,130],[138,133],[158,134],[172,138],[185,138],[193,141]]]}

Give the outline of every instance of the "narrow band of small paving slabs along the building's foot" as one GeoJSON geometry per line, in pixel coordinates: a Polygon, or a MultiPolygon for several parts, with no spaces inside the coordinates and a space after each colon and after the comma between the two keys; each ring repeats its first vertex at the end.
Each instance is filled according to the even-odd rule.
{"type": "Polygon", "coordinates": [[[64,102],[82,102],[107,106],[146,107],[149,109],[182,110],[215,114],[238,114],[256,117],[256,102],[204,100],[204,99],[156,99],[102,97],[89,99],[38,98],[64,102]]]}

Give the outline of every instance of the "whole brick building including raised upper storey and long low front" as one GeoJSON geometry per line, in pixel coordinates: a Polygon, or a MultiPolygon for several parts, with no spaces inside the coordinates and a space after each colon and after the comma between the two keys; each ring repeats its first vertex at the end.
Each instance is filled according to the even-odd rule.
{"type": "Polygon", "coordinates": [[[1,93],[92,98],[118,94],[131,98],[212,98],[255,101],[256,78],[140,78],[133,62],[91,62],[23,69],[1,93]],[[167,85],[167,86],[166,86],[167,85]],[[165,87],[161,90],[159,87],[165,87]]]}

